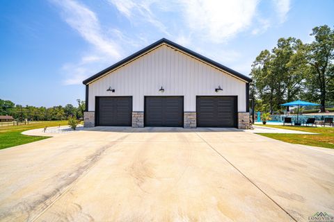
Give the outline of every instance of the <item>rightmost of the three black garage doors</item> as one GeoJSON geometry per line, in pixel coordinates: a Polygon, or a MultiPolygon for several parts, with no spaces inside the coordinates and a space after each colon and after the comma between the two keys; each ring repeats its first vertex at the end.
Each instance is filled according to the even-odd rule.
{"type": "Polygon", "coordinates": [[[237,127],[237,96],[197,96],[198,127],[237,127]]]}

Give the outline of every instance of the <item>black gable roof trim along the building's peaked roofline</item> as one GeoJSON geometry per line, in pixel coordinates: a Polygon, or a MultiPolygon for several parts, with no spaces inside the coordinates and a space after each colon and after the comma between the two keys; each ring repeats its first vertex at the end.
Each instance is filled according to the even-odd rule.
{"type": "Polygon", "coordinates": [[[160,44],[168,44],[170,46],[173,46],[175,49],[178,49],[180,51],[184,51],[185,53],[190,54],[191,56],[198,58],[200,60],[203,60],[207,63],[209,63],[210,65],[213,65],[214,67],[218,67],[219,69],[223,69],[225,71],[228,71],[230,74],[237,76],[243,80],[246,80],[248,83],[252,81],[251,78],[244,76],[243,74],[240,74],[237,71],[234,71],[233,69],[230,69],[228,67],[225,67],[224,65],[219,64],[218,62],[215,62],[214,60],[211,60],[205,56],[202,56],[194,51],[191,51],[190,49],[186,49],[184,46],[180,46],[180,44],[176,44],[175,42],[172,42],[170,40],[166,40],[165,38],[162,38],[161,40],[154,42],[153,44],[150,44],[149,46],[146,46],[144,49],[141,49],[140,51],[137,51],[136,53],[132,54],[131,56],[128,56],[127,58],[120,60],[120,62],[116,62],[114,65],[111,65],[111,67],[108,67],[102,71],[100,71],[99,73],[95,74],[94,76],[90,76],[90,78],[87,78],[86,80],[84,80],[82,83],[84,83],[84,85],[87,85],[90,81],[95,80],[95,78],[99,78],[100,76],[106,74],[106,72],[111,71],[113,69],[116,69],[117,67],[121,67],[122,65],[124,65],[125,63],[129,62],[130,60],[141,56],[143,54],[145,54],[146,52],[150,51],[151,49],[155,48],[156,46],[159,46],[160,44]]]}

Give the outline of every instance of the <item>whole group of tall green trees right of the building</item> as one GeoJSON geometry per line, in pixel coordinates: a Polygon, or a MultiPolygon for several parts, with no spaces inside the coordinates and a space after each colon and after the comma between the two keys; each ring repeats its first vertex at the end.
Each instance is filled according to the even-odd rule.
{"type": "Polygon", "coordinates": [[[321,112],[334,105],[334,29],[317,26],[310,35],[313,41],[305,44],[282,37],[256,57],[250,73],[255,110],[273,114],[296,99],[319,103],[321,112]]]}

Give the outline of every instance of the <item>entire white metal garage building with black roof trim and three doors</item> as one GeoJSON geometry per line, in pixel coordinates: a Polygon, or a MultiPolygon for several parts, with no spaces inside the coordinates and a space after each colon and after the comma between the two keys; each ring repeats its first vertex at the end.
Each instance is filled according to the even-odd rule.
{"type": "Polygon", "coordinates": [[[161,39],[84,80],[85,126],[247,128],[250,81],[161,39]]]}

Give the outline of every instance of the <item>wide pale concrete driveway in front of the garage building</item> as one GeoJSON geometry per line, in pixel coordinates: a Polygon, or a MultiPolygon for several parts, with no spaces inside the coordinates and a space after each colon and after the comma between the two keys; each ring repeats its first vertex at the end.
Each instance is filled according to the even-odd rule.
{"type": "Polygon", "coordinates": [[[0,221],[308,221],[334,152],[237,129],[93,128],[0,151],[0,221]]]}

